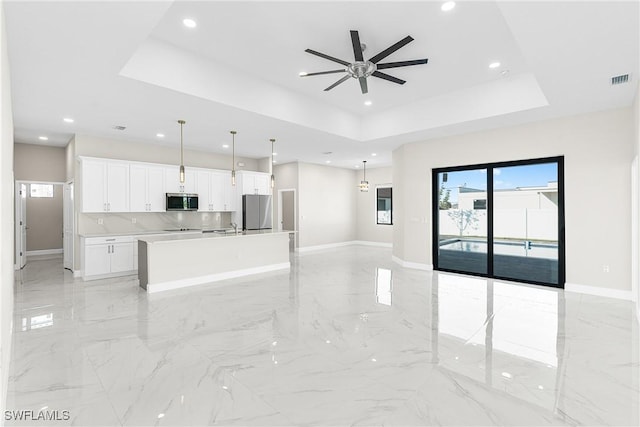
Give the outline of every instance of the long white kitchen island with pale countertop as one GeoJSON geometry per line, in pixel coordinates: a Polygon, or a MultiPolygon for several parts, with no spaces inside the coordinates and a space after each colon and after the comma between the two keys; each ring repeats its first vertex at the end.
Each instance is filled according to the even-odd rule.
{"type": "Polygon", "coordinates": [[[149,293],[289,269],[289,232],[138,239],[138,279],[149,293]]]}

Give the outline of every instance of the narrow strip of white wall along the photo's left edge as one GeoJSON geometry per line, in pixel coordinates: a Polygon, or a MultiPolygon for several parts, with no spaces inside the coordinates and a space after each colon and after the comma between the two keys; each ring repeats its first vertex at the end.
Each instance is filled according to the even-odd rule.
{"type": "Polygon", "coordinates": [[[5,30],[4,5],[0,4],[0,413],[4,413],[11,360],[13,319],[13,113],[11,79],[5,30]]]}

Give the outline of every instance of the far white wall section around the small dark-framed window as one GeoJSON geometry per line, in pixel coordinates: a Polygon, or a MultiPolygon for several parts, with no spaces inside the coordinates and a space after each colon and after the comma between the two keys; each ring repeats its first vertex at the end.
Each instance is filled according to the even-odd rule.
{"type": "MultiPolygon", "coordinates": [[[[356,195],[356,240],[364,242],[384,243],[391,245],[393,241],[393,225],[379,225],[376,218],[376,188],[393,187],[392,169],[367,169],[369,191],[366,193],[358,189],[362,180],[362,170],[356,170],[353,191],[356,195]]],[[[395,222],[395,189],[392,192],[392,221],[395,222]]]]}

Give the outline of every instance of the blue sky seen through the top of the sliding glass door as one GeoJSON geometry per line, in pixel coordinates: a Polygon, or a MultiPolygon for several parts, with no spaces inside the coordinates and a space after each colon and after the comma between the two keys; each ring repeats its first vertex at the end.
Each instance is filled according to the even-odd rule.
{"type": "MultiPolygon", "coordinates": [[[[446,189],[451,189],[450,200],[457,201],[457,188],[466,186],[486,190],[486,170],[471,170],[448,172],[446,189]]],[[[442,180],[442,174],[440,174],[442,180]]],[[[546,186],[549,181],[558,180],[558,165],[556,163],[543,163],[537,165],[511,166],[493,170],[493,186],[496,190],[515,187],[546,186]]]]}

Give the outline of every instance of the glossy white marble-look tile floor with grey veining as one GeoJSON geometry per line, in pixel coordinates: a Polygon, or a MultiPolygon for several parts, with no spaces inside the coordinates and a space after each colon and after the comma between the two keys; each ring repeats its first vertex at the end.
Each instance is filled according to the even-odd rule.
{"type": "Polygon", "coordinates": [[[7,409],[69,411],[30,425],[640,424],[630,302],[390,258],[350,246],[152,296],[30,262],[7,409]]]}

